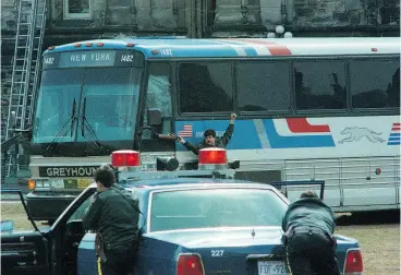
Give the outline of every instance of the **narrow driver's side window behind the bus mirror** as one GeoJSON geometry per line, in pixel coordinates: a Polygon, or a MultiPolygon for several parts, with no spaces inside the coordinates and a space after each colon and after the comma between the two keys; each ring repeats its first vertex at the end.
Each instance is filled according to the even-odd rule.
{"type": "MultiPolygon", "coordinates": [[[[149,63],[147,82],[146,108],[159,108],[162,116],[162,133],[171,133],[172,106],[171,106],[171,82],[169,63],[149,63]]],[[[147,124],[146,113],[144,124],[147,124]]],[[[149,140],[150,131],[144,131],[143,139],[149,140]]]]}

